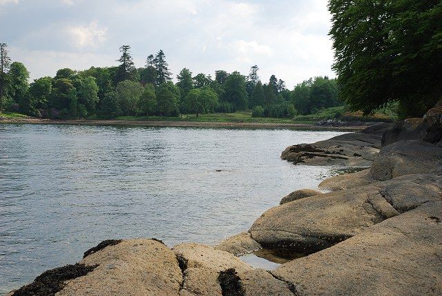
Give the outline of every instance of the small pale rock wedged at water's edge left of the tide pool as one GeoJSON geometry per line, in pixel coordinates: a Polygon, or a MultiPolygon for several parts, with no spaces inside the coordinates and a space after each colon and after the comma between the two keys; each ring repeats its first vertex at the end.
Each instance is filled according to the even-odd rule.
{"type": "Polygon", "coordinates": [[[248,232],[228,237],[226,240],[223,240],[215,246],[215,249],[229,252],[237,257],[253,251],[258,251],[261,248],[262,246],[253,240],[248,232]]]}

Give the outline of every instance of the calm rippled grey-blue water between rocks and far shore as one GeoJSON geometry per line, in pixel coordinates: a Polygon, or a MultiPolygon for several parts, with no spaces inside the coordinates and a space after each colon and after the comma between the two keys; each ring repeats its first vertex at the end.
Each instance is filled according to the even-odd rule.
{"type": "Polygon", "coordinates": [[[291,165],[281,151],[338,134],[0,125],[0,293],[105,239],[212,244],[245,231],[331,173],[291,165]]]}

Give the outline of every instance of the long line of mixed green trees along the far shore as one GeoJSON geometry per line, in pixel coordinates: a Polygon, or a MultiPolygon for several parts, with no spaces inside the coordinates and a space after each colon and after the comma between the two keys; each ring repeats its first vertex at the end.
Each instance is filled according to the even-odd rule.
{"type": "Polygon", "coordinates": [[[293,90],[272,75],[262,83],[258,66],[247,76],[215,71],[214,77],[193,75],[184,68],[172,81],[162,50],[150,54],[144,67],[135,67],[131,47],[123,45],[113,67],[60,69],[54,77],[29,83],[29,72],[11,63],[0,43],[0,112],[22,112],[41,118],[115,118],[117,116],[179,116],[253,109],[256,117],[293,118],[324,107],[342,105],[335,79],[310,78],[293,90]]]}

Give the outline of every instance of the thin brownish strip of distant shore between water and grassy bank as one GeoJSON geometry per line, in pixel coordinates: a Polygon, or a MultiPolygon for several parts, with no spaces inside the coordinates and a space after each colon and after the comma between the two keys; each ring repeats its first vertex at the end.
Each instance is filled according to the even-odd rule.
{"type": "Polygon", "coordinates": [[[242,123],[242,122],[199,122],[199,121],[168,121],[168,120],[52,120],[40,118],[2,118],[1,123],[30,123],[43,125],[122,125],[145,127],[244,127],[244,128],[275,128],[275,129],[315,129],[329,130],[342,129],[356,131],[365,129],[367,125],[350,126],[318,126],[309,123],[242,123]]]}

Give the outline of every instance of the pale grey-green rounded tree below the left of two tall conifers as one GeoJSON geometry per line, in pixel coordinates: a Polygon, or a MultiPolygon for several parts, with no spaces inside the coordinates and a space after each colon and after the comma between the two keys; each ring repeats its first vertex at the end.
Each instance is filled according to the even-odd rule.
{"type": "Polygon", "coordinates": [[[123,114],[133,115],[137,111],[138,101],[144,92],[140,83],[125,80],[117,84],[118,105],[123,114]]]}

